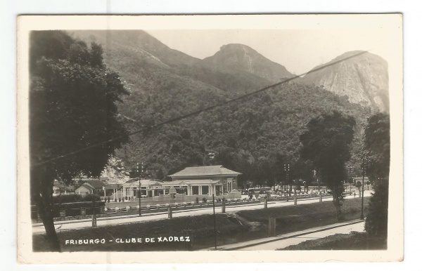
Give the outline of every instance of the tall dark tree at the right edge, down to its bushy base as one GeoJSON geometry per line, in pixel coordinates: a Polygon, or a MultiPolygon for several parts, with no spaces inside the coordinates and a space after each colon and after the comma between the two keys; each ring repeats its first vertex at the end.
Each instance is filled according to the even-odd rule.
{"type": "Polygon", "coordinates": [[[390,175],[390,116],[385,113],[369,117],[364,133],[364,152],[368,157],[367,174],[373,184],[365,230],[387,238],[388,183],[390,175]]]}

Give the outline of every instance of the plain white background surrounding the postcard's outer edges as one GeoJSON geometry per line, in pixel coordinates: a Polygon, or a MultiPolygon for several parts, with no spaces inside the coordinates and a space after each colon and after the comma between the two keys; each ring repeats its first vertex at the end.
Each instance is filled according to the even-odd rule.
{"type": "MultiPolygon", "coordinates": [[[[338,270],[356,270],[357,268],[382,268],[383,270],[397,270],[397,268],[410,270],[420,267],[420,244],[422,225],[421,216],[418,211],[413,212],[415,206],[420,206],[420,190],[414,189],[417,180],[420,178],[420,152],[421,152],[421,91],[420,65],[422,38],[420,35],[421,8],[418,1],[397,1],[397,0],[373,0],[373,1],[48,1],[48,0],[20,0],[9,1],[1,11],[0,27],[3,30],[4,40],[0,43],[0,74],[2,77],[0,91],[0,121],[1,138],[0,148],[1,163],[0,169],[4,180],[11,182],[11,191],[4,191],[0,201],[2,206],[8,206],[8,219],[0,220],[0,244],[2,265],[13,270],[56,270],[55,265],[17,265],[16,264],[16,223],[15,223],[15,193],[13,187],[16,182],[15,171],[15,20],[18,14],[89,14],[89,13],[380,13],[380,12],[402,12],[404,14],[404,150],[405,161],[404,173],[409,185],[405,182],[405,257],[402,263],[378,263],[378,264],[239,264],[236,267],[242,270],[257,270],[262,268],[312,268],[312,270],[327,270],[333,268],[338,270]],[[117,3],[118,2],[118,3],[117,3]],[[110,8],[108,8],[110,7],[110,8]],[[414,183],[413,183],[414,182],[414,183]]],[[[416,208],[418,209],[418,208],[416,208]]],[[[174,270],[182,265],[142,265],[138,267],[148,270],[174,270]]],[[[108,270],[121,270],[124,265],[108,266],[108,270]]],[[[215,270],[226,267],[226,265],[183,265],[184,270],[205,269],[215,270]]],[[[63,266],[61,269],[73,269],[72,265],[63,266]]],[[[104,270],[105,265],[78,265],[79,270],[104,270]]]]}

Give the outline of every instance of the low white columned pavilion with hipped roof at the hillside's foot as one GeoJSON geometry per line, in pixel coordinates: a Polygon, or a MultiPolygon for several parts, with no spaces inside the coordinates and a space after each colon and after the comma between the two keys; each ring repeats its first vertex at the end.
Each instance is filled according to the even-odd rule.
{"type": "Polygon", "coordinates": [[[210,201],[213,194],[215,200],[241,199],[241,192],[237,190],[240,174],[223,166],[195,166],[170,175],[173,179],[170,182],[133,178],[123,183],[121,190],[107,187],[113,189],[113,194],[106,207],[210,201]]]}

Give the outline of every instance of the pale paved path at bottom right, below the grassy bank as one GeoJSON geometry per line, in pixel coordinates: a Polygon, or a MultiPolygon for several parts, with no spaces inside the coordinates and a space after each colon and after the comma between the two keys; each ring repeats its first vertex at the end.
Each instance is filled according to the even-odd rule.
{"type": "MultiPolygon", "coordinates": [[[[335,223],[332,225],[326,225],[322,227],[313,227],[307,230],[301,230],[298,232],[289,232],[287,234],[277,235],[276,237],[267,237],[262,239],[250,240],[247,242],[241,242],[236,244],[226,244],[223,246],[217,246],[219,251],[231,251],[231,250],[245,250],[245,251],[257,251],[257,250],[276,250],[283,249],[287,246],[299,244],[307,240],[319,239],[327,237],[329,235],[337,233],[350,233],[352,231],[362,232],[364,231],[365,220],[351,220],[344,223],[335,223]]],[[[203,249],[203,251],[214,251],[215,247],[203,249]]]]}

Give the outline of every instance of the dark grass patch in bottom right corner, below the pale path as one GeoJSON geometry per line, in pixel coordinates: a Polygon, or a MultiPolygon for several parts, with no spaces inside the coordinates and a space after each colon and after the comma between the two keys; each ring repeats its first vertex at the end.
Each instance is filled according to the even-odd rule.
{"type": "Polygon", "coordinates": [[[385,239],[370,237],[366,232],[334,234],[321,239],[309,240],[281,250],[380,250],[387,249],[385,239]]]}

